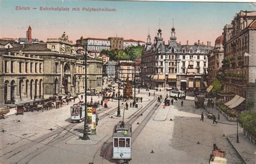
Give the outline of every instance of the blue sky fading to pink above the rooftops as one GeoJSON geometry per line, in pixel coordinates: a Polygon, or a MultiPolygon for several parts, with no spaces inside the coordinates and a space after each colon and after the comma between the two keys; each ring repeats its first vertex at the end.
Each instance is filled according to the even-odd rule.
{"type": "Polygon", "coordinates": [[[186,44],[188,40],[188,44],[194,44],[200,40],[205,44],[210,41],[214,45],[215,39],[223,32],[224,25],[230,24],[235,13],[241,10],[255,11],[256,5],[206,2],[0,0],[0,38],[25,38],[30,25],[32,38],[44,42],[47,38],[62,36],[64,31],[73,43],[80,36],[118,36],[146,42],[149,33],[153,41],[160,27],[165,43],[168,43],[174,22],[177,42],[186,44]],[[27,7],[30,9],[24,10],[28,9],[27,7]],[[69,8],[69,11],[45,11],[41,10],[42,8],[69,8]],[[72,11],[73,8],[79,8],[79,11],[72,11]],[[107,8],[113,11],[90,12],[92,8],[107,8]]]}

